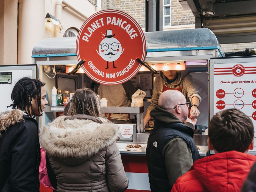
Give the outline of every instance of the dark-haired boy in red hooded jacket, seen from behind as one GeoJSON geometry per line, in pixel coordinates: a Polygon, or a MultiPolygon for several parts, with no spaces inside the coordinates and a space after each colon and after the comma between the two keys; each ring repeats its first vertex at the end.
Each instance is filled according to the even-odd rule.
{"type": "Polygon", "coordinates": [[[215,155],[197,160],[172,187],[175,191],[240,191],[256,157],[252,120],[237,109],[216,113],[210,122],[208,146],[215,155]]]}

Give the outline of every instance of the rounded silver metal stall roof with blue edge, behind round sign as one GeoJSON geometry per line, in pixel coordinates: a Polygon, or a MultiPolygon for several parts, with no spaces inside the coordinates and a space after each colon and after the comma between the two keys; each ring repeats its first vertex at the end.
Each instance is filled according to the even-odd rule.
{"type": "MultiPolygon", "coordinates": [[[[216,36],[207,28],[145,33],[147,52],[215,50],[220,48],[216,36]]],[[[38,42],[32,57],[75,56],[76,37],[48,38],[38,42]]]]}

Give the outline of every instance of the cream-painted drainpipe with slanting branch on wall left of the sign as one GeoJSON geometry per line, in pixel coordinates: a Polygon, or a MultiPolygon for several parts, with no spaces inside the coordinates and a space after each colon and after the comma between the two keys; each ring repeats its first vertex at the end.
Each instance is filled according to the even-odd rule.
{"type": "MultiPolygon", "coordinates": [[[[60,22],[61,22],[62,5],[64,5],[63,8],[68,7],[70,10],[72,10],[73,12],[78,14],[79,16],[83,17],[85,20],[88,19],[87,15],[85,15],[82,11],[77,9],[74,5],[70,4],[68,1],[66,1],[66,0],[57,0],[56,1],[56,18],[58,18],[60,20],[60,22]]],[[[62,25],[56,26],[55,37],[61,37],[60,36],[61,35],[61,29],[62,29],[62,25]]]]}

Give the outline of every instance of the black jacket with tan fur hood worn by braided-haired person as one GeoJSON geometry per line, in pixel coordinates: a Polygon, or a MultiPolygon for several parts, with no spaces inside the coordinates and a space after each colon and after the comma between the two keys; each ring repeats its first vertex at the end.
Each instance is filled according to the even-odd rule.
{"type": "Polygon", "coordinates": [[[0,114],[0,191],[39,191],[40,145],[35,119],[13,109],[0,114]]]}

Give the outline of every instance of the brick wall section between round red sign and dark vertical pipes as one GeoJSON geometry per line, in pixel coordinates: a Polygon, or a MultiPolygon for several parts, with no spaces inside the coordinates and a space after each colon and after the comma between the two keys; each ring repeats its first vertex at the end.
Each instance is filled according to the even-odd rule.
{"type": "Polygon", "coordinates": [[[115,0],[116,9],[131,15],[145,31],[145,0],[115,0]]]}

